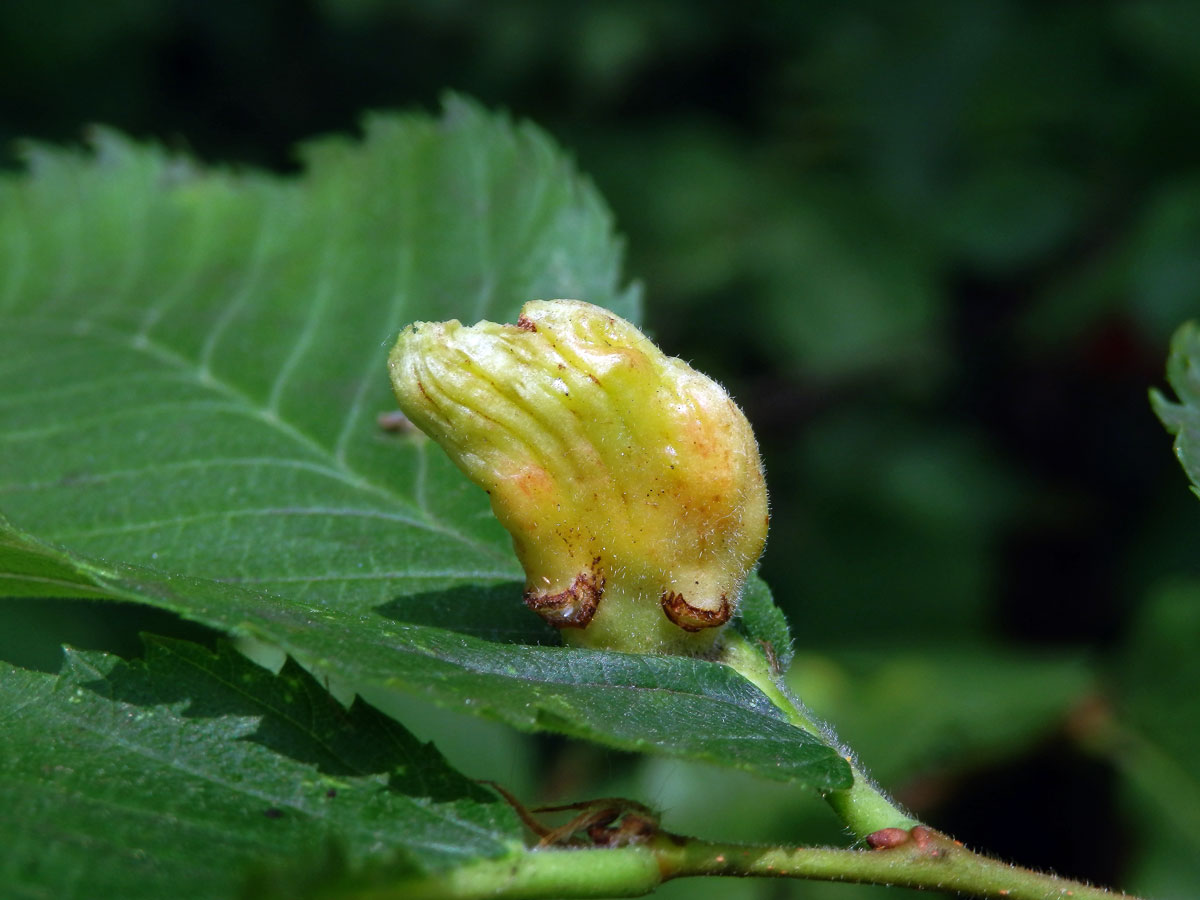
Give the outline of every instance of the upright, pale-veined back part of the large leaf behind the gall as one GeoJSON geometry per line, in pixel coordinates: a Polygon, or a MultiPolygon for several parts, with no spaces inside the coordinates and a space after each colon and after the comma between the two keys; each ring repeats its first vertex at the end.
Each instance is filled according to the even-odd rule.
{"type": "Polygon", "coordinates": [[[364,608],[520,576],[440,450],[390,433],[420,318],[636,318],[594,190],[461,100],[305,148],[299,180],[97,132],[0,180],[0,508],[108,559],[364,608]]]}

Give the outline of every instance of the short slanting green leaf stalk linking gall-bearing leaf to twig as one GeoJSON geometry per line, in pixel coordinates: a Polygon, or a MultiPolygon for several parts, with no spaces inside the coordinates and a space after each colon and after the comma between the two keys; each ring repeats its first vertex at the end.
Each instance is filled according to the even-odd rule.
{"type": "Polygon", "coordinates": [[[782,678],[776,677],[770,671],[766,655],[758,648],[750,644],[742,635],[731,632],[726,638],[725,655],[721,661],[761,690],[797,728],[839,749],[846,762],[850,763],[853,784],[841,791],[827,791],[822,796],[857,838],[865,838],[883,828],[907,830],[920,824],[919,820],[900,809],[859,768],[853,755],[838,743],[838,737],[829,726],[814,719],[808,709],[791,695],[784,685],[782,678]]]}

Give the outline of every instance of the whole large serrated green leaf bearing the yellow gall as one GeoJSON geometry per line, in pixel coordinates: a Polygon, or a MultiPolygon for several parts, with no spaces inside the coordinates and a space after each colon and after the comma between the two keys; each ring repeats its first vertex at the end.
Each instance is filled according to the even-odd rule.
{"type": "Polygon", "coordinates": [[[535,646],[557,638],[484,492],[377,424],[410,319],[563,295],[636,316],[592,188],[462,101],[305,156],[295,181],[234,176],[101,133],[0,182],[8,593],[151,604],[354,688],[848,784],[725,666],[535,646]]]}

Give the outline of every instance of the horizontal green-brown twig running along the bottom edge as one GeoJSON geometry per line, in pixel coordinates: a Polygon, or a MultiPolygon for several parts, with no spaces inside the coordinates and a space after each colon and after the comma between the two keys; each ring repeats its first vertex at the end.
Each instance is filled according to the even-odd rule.
{"type": "Polygon", "coordinates": [[[665,881],[692,876],[896,884],[996,900],[1115,900],[1128,896],[982,857],[928,828],[917,828],[910,840],[890,850],[750,847],[660,834],[649,844],[616,850],[533,850],[517,857],[474,863],[440,876],[334,896],[340,900],[582,900],[642,896],[665,881]]]}

